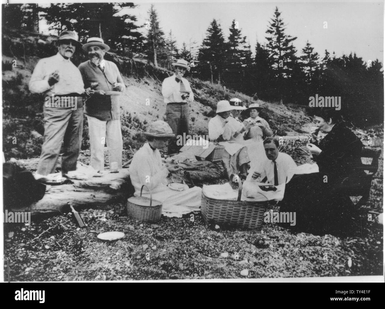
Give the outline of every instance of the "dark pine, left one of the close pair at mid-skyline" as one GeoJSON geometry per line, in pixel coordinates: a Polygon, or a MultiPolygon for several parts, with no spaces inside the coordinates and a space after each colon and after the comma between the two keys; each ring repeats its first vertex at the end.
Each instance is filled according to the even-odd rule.
{"type": "Polygon", "coordinates": [[[224,60],[227,44],[224,41],[221,25],[215,19],[207,29],[206,38],[199,49],[199,74],[202,79],[211,79],[221,83],[221,76],[224,71],[224,60]]]}

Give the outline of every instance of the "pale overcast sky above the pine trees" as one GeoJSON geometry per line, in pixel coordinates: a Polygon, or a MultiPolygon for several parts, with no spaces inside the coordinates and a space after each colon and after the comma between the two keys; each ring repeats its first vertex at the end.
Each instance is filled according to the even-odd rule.
{"type": "MultiPolygon", "coordinates": [[[[4,0],[3,0],[4,2],[4,0]]],[[[90,1],[103,2],[103,1],[90,1]]],[[[44,2],[41,2],[44,3],[44,2]]],[[[162,30],[168,34],[170,29],[176,37],[178,47],[182,42],[188,44],[195,40],[200,45],[206,36],[210,22],[215,18],[227,38],[231,21],[235,19],[242,34],[247,36],[252,51],[256,39],[265,43],[265,32],[275,7],[278,6],[285,22],[286,34],[298,37],[294,45],[300,54],[309,40],[322,57],[325,49],[330,53],[342,54],[356,52],[364,61],[379,59],[383,62],[383,2],[228,2],[203,1],[188,2],[155,0],[135,2],[138,6],[129,9],[136,15],[138,24],[145,24],[148,10],[154,3],[162,30]],[[324,29],[327,22],[327,29],[324,29]]],[[[44,26],[41,25],[40,30],[44,26]]],[[[141,29],[143,34],[146,30],[141,29]]]]}

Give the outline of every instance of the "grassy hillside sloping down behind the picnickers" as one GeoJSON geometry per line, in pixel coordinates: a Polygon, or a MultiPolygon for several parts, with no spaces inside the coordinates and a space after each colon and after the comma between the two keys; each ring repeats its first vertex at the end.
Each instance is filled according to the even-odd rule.
{"type": "MultiPolygon", "coordinates": [[[[39,156],[43,142],[44,96],[28,90],[33,69],[42,57],[55,54],[54,37],[32,33],[3,31],[3,149],[6,158],[31,158],[39,156]],[[46,44],[38,44],[38,40],[46,44]],[[14,67],[13,60],[16,60],[14,67]]],[[[130,59],[114,52],[106,54],[122,73],[126,91],[119,97],[124,148],[138,148],[143,143],[143,132],[148,123],[166,120],[166,105],[161,94],[161,82],[172,72],[156,68],[143,60],[130,59]]],[[[73,62],[78,65],[87,60],[76,53],[73,62]]],[[[246,104],[256,102],[244,94],[229,91],[221,85],[200,81],[187,76],[194,92],[195,102],[190,104],[191,134],[207,134],[209,119],[215,115],[216,104],[222,99],[238,97],[246,104]]],[[[263,102],[266,109],[261,115],[278,135],[298,134],[306,131],[310,118],[303,107],[263,102]]],[[[84,119],[82,149],[89,149],[87,119],[84,119]]]]}

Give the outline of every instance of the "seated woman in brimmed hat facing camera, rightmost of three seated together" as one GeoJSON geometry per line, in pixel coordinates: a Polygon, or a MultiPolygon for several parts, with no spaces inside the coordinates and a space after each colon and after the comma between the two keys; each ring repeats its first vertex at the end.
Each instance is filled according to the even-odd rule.
{"type": "Polygon", "coordinates": [[[251,125],[251,128],[245,133],[245,145],[248,149],[250,165],[254,169],[258,169],[266,157],[263,140],[266,137],[273,136],[273,131],[271,131],[268,122],[258,116],[262,109],[263,107],[258,103],[250,104],[247,109],[250,117],[243,121],[244,125],[251,125]]]}

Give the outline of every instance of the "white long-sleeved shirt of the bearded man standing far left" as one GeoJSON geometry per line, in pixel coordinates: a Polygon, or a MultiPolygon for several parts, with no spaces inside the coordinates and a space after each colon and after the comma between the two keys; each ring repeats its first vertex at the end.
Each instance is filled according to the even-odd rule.
{"type": "Polygon", "coordinates": [[[29,90],[32,93],[45,93],[47,96],[51,94],[82,94],[84,83],[82,74],[71,60],[65,59],[60,53],[57,53],[37,62],[29,82],[29,90]],[[56,70],[59,71],[59,81],[50,86],[48,78],[56,70]]]}

